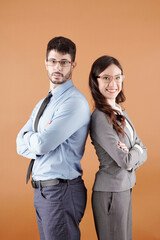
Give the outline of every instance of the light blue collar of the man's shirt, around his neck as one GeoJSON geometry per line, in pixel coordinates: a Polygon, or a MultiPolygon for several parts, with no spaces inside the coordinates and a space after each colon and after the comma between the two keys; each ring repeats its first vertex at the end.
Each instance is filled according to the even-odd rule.
{"type": "Polygon", "coordinates": [[[62,95],[66,90],[68,90],[71,87],[73,87],[72,79],[53,89],[52,91],[53,98],[57,99],[60,95],[62,95]]]}

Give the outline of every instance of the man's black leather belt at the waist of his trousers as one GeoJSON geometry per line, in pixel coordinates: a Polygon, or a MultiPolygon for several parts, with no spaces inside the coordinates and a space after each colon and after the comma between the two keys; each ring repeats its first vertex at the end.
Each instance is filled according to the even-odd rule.
{"type": "Polygon", "coordinates": [[[31,184],[33,188],[39,188],[39,186],[41,187],[49,187],[49,186],[54,186],[57,185],[59,183],[66,183],[69,180],[66,179],[53,179],[53,180],[45,180],[45,181],[34,181],[32,179],[31,184]]]}

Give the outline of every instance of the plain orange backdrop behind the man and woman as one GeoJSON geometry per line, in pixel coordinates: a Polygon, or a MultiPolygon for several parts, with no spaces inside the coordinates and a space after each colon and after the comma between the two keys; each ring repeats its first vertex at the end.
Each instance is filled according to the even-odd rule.
{"type": "MultiPolygon", "coordinates": [[[[16,136],[49,89],[45,51],[59,35],[77,45],[73,81],[91,110],[91,64],[104,54],[122,63],[125,108],[148,148],[133,191],[134,240],[160,239],[160,1],[1,0],[0,29],[0,239],[39,239],[33,189],[25,184],[29,160],[17,155],[16,136]]],[[[82,165],[88,189],[82,240],[96,240],[90,197],[98,161],[90,138],[82,165]]]]}

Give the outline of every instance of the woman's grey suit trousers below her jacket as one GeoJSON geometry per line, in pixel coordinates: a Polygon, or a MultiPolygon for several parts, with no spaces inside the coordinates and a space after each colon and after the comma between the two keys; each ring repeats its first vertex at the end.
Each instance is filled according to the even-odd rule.
{"type": "Polygon", "coordinates": [[[132,240],[132,189],[92,194],[92,208],[99,240],[132,240]]]}

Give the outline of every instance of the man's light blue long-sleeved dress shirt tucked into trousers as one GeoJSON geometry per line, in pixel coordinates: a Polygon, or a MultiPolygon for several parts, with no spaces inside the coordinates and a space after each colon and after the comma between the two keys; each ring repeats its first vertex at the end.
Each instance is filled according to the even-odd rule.
{"type": "Polygon", "coordinates": [[[43,99],[17,136],[18,154],[35,159],[35,181],[74,179],[82,174],[80,160],[90,122],[88,102],[72,80],[55,88],[52,95],[39,120],[38,131],[34,131],[34,121],[43,99]]]}

